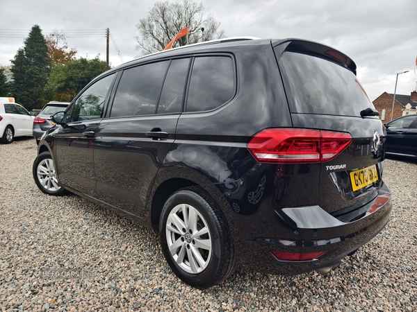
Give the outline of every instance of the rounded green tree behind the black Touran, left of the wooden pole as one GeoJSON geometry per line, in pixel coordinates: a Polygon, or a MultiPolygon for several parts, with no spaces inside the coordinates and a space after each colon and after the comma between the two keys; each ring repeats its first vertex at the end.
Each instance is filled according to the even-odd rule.
{"type": "Polygon", "coordinates": [[[50,101],[70,102],[90,81],[106,71],[106,62],[96,58],[79,58],[57,64],[49,76],[47,98],[50,101]]]}

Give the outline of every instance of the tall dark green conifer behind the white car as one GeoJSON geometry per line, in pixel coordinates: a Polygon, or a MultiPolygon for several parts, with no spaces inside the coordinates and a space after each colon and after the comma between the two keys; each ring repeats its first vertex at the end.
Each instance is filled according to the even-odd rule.
{"type": "Polygon", "coordinates": [[[24,40],[24,47],[17,50],[10,69],[13,96],[28,110],[42,106],[49,64],[47,42],[40,27],[35,25],[24,40]]]}

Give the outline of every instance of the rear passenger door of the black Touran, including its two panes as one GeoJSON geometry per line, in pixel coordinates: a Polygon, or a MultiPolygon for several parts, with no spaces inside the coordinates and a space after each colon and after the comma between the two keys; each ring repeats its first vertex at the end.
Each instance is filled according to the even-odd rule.
{"type": "Polygon", "coordinates": [[[125,69],[95,139],[97,198],[144,214],[154,177],[175,139],[188,58],[125,69]]]}

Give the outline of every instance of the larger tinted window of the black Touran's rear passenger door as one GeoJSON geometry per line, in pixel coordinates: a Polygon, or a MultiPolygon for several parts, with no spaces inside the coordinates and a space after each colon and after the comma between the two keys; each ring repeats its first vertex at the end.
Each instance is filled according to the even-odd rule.
{"type": "Polygon", "coordinates": [[[123,71],[110,116],[155,114],[168,64],[170,61],[156,62],[123,71]]]}

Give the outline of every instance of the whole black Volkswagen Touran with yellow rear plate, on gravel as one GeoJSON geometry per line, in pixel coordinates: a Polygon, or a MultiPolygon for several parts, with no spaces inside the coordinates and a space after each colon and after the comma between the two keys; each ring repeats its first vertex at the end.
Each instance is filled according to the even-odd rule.
{"type": "Polygon", "coordinates": [[[380,232],[384,126],[347,55],[306,40],[233,38],[101,74],[38,146],[41,191],[153,227],[186,283],[236,264],[328,272],[380,232]]]}

